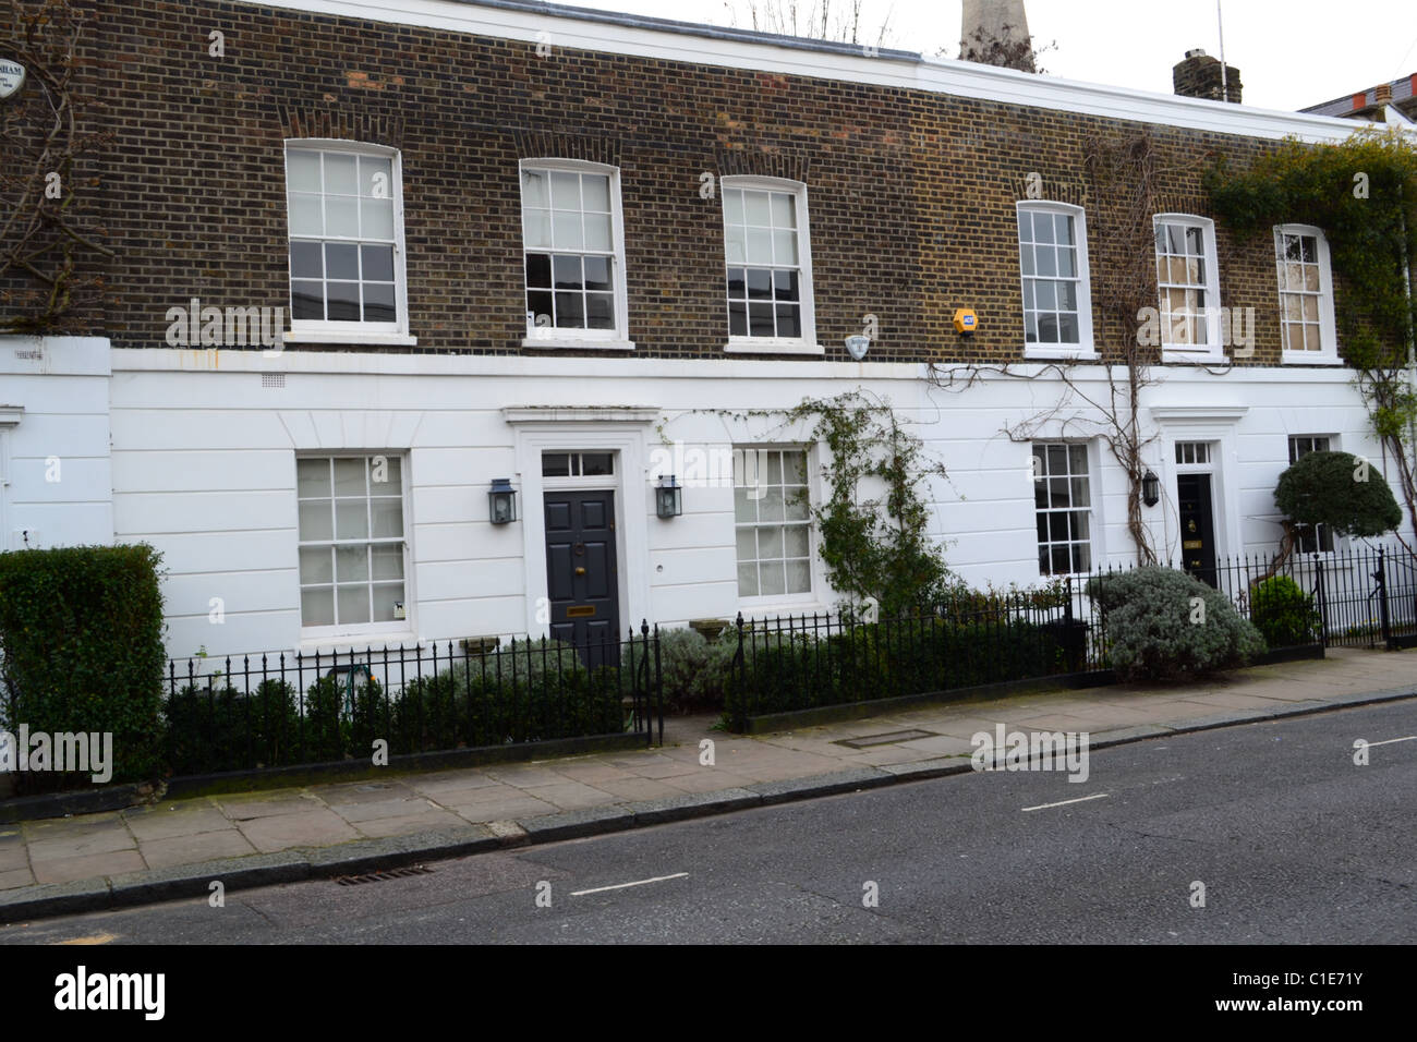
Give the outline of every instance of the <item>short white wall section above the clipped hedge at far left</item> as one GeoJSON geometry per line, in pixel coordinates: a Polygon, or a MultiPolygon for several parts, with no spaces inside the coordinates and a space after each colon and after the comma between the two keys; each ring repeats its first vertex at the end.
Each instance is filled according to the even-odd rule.
{"type": "Polygon", "coordinates": [[[0,549],[113,539],[109,342],[0,336],[0,549]]]}

